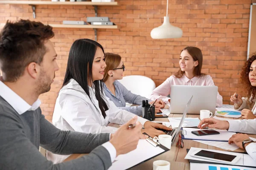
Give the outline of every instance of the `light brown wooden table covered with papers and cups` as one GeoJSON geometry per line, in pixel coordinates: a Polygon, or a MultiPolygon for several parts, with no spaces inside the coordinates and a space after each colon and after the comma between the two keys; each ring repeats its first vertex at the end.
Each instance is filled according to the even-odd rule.
{"type": "MultiPolygon", "coordinates": [[[[182,114],[169,114],[169,117],[181,117],[182,114]]],[[[187,114],[186,117],[190,118],[199,118],[200,115],[187,114]]],[[[231,118],[233,119],[233,118],[231,118]]],[[[160,122],[169,122],[167,118],[156,118],[154,121],[160,122]]],[[[110,126],[118,127],[117,125],[110,124],[110,126]]],[[[250,135],[250,137],[256,138],[256,135],[250,135]]],[[[153,159],[146,161],[142,164],[137,165],[136,167],[130,168],[129,170],[152,170],[153,169],[153,161],[155,160],[166,160],[171,163],[172,170],[190,170],[189,161],[184,159],[187,152],[186,149],[190,149],[191,147],[200,147],[204,149],[214,149],[214,150],[223,150],[218,147],[209,146],[207,144],[202,144],[199,142],[195,142],[193,140],[183,140],[184,147],[178,148],[176,147],[178,138],[175,139],[175,143],[172,145],[171,150],[166,153],[161,154],[160,156],[154,157],[153,159]]],[[[236,152],[243,152],[242,149],[235,150],[236,152]]],[[[85,154],[72,154],[65,161],[70,161],[72,159],[80,158],[85,154]]]]}

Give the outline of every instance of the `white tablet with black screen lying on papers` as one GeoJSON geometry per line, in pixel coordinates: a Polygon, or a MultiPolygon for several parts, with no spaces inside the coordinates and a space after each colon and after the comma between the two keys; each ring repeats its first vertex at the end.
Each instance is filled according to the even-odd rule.
{"type": "Polygon", "coordinates": [[[212,161],[225,162],[229,164],[235,164],[241,158],[239,153],[230,152],[226,154],[226,153],[212,152],[212,151],[203,150],[203,149],[195,151],[190,156],[201,158],[201,159],[208,159],[212,161]]]}

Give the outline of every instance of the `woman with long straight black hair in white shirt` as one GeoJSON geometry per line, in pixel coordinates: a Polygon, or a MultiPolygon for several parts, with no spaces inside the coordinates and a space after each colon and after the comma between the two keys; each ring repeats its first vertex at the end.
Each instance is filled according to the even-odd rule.
{"type": "MultiPolygon", "coordinates": [[[[117,108],[103,93],[105,67],[102,45],[89,39],[73,42],[64,82],[55,103],[53,125],[61,130],[113,133],[117,128],[107,126],[109,123],[124,124],[134,117],[133,113],[117,108]]],[[[141,117],[138,121],[145,128],[142,132],[149,136],[165,134],[155,128],[170,130],[141,117]]],[[[60,160],[55,157],[52,161],[56,163],[60,160]]]]}

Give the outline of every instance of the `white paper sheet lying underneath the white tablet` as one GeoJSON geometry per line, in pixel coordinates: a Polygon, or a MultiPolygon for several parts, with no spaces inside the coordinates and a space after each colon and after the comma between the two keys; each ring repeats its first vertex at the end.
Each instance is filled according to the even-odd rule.
{"type": "MultiPolygon", "coordinates": [[[[201,159],[201,158],[195,158],[195,157],[190,156],[192,153],[195,153],[197,150],[199,151],[199,150],[201,150],[201,148],[191,147],[189,152],[187,153],[185,159],[220,163],[219,161],[212,161],[212,160],[209,160],[209,159],[201,159]]],[[[204,149],[204,150],[209,150],[209,151],[218,152],[218,153],[230,154],[230,152],[221,151],[221,150],[212,150],[212,149],[204,149]]],[[[232,153],[232,154],[234,154],[234,153],[232,153]]],[[[242,153],[235,153],[235,154],[238,154],[239,156],[241,156],[241,158],[236,162],[236,165],[256,167],[256,162],[250,157],[250,155],[242,154],[242,153]]],[[[225,163],[225,164],[227,164],[227,163],[225,163]]]]}

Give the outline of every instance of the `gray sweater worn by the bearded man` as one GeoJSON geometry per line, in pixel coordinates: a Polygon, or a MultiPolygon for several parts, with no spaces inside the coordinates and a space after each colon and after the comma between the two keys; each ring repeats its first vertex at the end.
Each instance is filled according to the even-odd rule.
{"type": "Polygon", "coordinates": [[[40,108],[19,115],[0,96],[0,170],[107,170],[111,157],[99,146],[107,141],[109,133],[61,131],[44,118],[40,108]],[[39,145],[57,154],[90,154],[53,164],[38,151],[39,145]]]}

